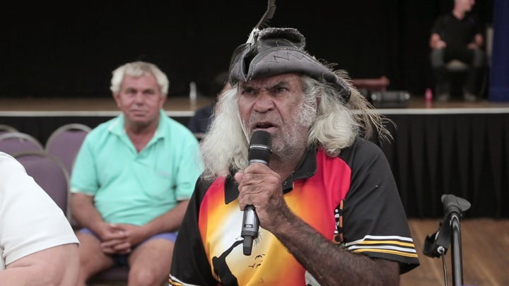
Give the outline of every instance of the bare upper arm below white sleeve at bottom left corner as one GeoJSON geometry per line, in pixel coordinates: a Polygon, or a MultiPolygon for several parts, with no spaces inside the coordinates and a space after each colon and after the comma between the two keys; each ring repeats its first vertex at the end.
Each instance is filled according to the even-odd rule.
{"type": "Polygon", "coordinates": [[[77,244],[64,244],[35,252],[0,271],[0,285],[74,286],[78,279],[77,244]]]}

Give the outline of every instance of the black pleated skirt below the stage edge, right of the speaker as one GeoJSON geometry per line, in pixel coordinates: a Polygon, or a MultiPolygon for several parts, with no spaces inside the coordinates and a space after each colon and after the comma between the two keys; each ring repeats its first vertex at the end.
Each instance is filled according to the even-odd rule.
{"type": "Polygon", "coordinates": [[[406,215],[438,218],[442,194],[466,199],[469,218],[509,218],[509,115],[388,114],[397,126],[382,145],[406,215]]]}

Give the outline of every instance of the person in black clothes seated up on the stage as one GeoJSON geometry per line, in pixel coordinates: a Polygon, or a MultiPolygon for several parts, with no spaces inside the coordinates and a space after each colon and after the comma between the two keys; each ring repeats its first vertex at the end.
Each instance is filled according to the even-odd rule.
{"type": "Polygon", "coordinates": [[[464,81],[463,98],[475,101],[479,93],[479,76],[484,66],[482,27],[475,15],[470,14],[474,0],[454,0],[450,13],[438,17],[431,28],[431,66],[435,76],[435,93],[438,101],[450,98],[450,83],[445,70],[447,62],[457,59],[469,66],[464,81]]]}

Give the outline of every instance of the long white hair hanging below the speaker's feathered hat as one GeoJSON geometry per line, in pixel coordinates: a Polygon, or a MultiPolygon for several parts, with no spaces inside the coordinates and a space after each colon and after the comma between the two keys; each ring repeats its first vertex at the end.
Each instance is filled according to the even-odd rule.
{"type": "MultiPolygon", "coordinates": [[[[346,73],[336,73],[351,90],[351,98],[346,105],[339,100],[337,90],[327,83],[301,76],[304,92],[302,114],[307,117],[303,120],[313,120],[307,147],[320,147],[328,155],[337,156],[341,149],[353,144],[356,136],[370,138],[376,133],[382,140],[390,138],[383,124],[385,118],[375,112],[365,97],[353,88],[346,73]]],[[[204,179],[226,177],[232,171],[247,167],[249,139],[240,121],[237,90],[238,85],[235,85],[219,96],[209,131],[201,139],[204,179]]]]}

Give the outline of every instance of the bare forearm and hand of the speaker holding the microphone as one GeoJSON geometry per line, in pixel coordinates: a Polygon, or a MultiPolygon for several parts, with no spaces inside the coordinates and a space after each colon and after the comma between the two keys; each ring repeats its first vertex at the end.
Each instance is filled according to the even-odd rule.
{"type": "Polygon", "coordinates": [[[398,285],[399,263],[351,254],[329,242],[286,205],[279,174],[253,164],[235,174],[239,204],[252,204],[260,225],[274,234],[320,285],[398,285]]]}

